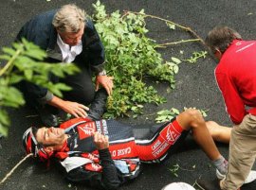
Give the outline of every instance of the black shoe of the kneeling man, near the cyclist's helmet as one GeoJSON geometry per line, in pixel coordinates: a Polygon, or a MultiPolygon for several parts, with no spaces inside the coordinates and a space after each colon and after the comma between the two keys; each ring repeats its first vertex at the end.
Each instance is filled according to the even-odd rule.
{"type": "Polygon", "coordinates": [[[57,127],[58,118],[55,114],[51,113],[47,108],[37,109],[39,116],[46,127],[57,127]]]}

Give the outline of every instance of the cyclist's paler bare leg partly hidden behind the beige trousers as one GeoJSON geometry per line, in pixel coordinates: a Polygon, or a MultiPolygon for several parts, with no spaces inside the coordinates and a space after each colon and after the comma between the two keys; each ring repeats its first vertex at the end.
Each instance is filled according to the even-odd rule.
{"type": "Polygon", "coordinates": [[[220,126],[214,121],[208,121],[206,125],[214,141],[229,144],[231,128],[220,126]]]}

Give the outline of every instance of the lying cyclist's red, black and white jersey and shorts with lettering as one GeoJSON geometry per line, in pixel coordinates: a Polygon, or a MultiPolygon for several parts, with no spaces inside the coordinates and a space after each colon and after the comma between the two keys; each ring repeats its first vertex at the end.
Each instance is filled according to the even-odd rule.
{"type": "Polygon", "coordinates": [[[88,121],[76,118],[60,128],[68,134],[62,151],[55,154],[67,172],[76,168],[101,173],[99,151],[93,143],[96,131],[109,137],[109,151],[122,179],[133,179],[140,172],[140,163],[159,163],[187,132],[176,120],[151,127],[133,127],[116,120],[88,121]],[[140,132],[141,131],[141,132],[140,132]],[[143,132],[142,132],[143,131],[143,132]],[[139,134],[140,133],[140,134],[139,134]],[[143,134],[141,134],[143,133],[143,134]]]}

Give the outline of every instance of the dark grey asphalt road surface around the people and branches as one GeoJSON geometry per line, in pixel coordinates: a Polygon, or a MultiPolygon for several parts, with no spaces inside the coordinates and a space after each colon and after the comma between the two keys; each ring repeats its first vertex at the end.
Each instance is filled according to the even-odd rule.
{"type": "MultiPolygon", "coordinates": [[[[203,39],[208,31],[216,25],[226,25],[238,30],[244,39],[255,37],[256,25],[256,0],[139,0],[139,1],[101,1],[108,12],[119,9],[120,11],[145,9],[145,12],[161,18],[169,19],[183,26],[190,26],[203,39]]],[[[9,46],[12,43],[19,28],[33,15],[48,10],[56,9],[67,3],[76,3],[85,9],[88,14],[92,14],[93,0],[1,0],[0,1],[0,47],[9,46]]],[[[158,43],[169,43],[178,40],[189,39],[188,33],[181,30],[171,32],[159,21],[147,20],[150,29],[149,36],[158,43]]],[[[205,50],[199,43],[186,43],[170,46],[161,50],[164,58],[171,57],[186,58],[194,51],[205,50]],[[183,51],[181,55],[179,52],[183,51]]],[[[153,122],[147,118],[147,114],[162,109],[183,107],[196,107],[208,110],[207,120],[215,120],[223,125],[231,125],[229,117],[225,112],[222,96],[215,84],[213,70],[216,65],[215,60],[208,56],[205,60],[198,60],[195,64],[182,63],[180,71],[176,76],[176,89],[168,94],[168,85],[155,83],[154,85],[160,95],[167,97],[168,102],[158,107],[146,105],[144,115],[137,120],[132,118],[122,118],[124,122],[131,124],[153,122]]],[[[11,127],[9,137],[0,140],[0,179],[3,179],[9,170],[25,156],[21,144],[23,132],[30,126],[40,125],[38,117],[34,111],[21,108],[9,111],[11,127]]],[[[228,157],[229,147],[218,144],[221,153],[228,157]]],[[[184,181],[193,184],[199,177],[208,179],[214,178],[214,169],[210,165],[210,160],[200,150],[200,148],[189,137],[183,147],[163,164],[145,165],[144,171],[135,181],[120,187],[120,190],[128,189],[161,189],[162,186],[173,181],[184,181]],[[172,172],[174,165],[180,167],[172,172]],[[171,169],[171,170],[170,170],[171,169]],[[174,176],[174,173],[178,177],[174,176]]],[[[62,176],[54,166],[49,169],[42,169],[28,160],[9,177],[0,189],[5,190],[27,190],[27,189],[90,189],[82,184],[70,184],[64,181],[62,176]]],[[[256,182],[243,188],[244,190],[256,189],[256,182]]]]}

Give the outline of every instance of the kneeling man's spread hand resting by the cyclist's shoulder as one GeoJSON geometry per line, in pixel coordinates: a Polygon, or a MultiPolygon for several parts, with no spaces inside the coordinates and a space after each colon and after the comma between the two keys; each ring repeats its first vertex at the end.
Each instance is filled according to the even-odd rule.
{"type": "Polygon", "coordinates": [[[72,101],[64,101],[62,108],[64,112],[68,112],[74,115],[75,117],[83,117],[83,118],[87,116],[86,111],[89,111],[88,107],[72,101]]]}

